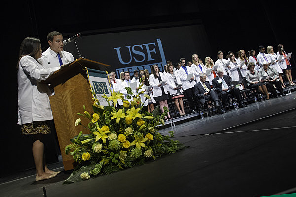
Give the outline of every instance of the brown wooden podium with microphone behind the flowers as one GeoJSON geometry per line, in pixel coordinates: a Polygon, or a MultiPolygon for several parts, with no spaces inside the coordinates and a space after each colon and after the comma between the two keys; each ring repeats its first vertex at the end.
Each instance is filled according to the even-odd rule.
{"type": "Polygon", "coordinates": [[[89,91],[90,85],[83,66],[101,71],[111,67],[103,63],[79,58],[63,66],[42,82],[54,87],[55,94],[50,96],[49,100],[65,170],[74,169],[73,156],[65,153],[65,147],[71,143],[70,139],[78,135],[80,131],[83,131],[83,134],[89,134],[89,131],[84,129],[83,126],[75,126],[77,118],[81,118],[81,123],[85,126],[89,123],[87,118],[83,118],[77,113],[82,114],[84,112],[83,105],[85,105],[86,111],[93,113],[92,94],[89,91]]]}

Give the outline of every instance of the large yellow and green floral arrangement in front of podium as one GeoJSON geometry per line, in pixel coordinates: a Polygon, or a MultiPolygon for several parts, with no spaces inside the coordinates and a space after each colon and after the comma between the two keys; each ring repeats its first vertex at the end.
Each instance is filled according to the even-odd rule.
{"type": "MultiPolygon", "coordinates": [[[[140,82],[140,84],[142,84],[140,82]]],[[[142,84],[143,85],[143,84],[142,84]]],[[[157,132],[157,125],[164,125],[165,112],[159,116],[158,108],[152,113],[148,113],[147,107],[141,103],[139,92],[142,85],[133,94],[131,88],[125,88],[128,92],[127,101],[119,92],[111,92],[111,96],[103,96],[108,103],[113,105],[101,106],[96,94],[93,94],[92,115],[85,111],[78,115],[88,118],[90,123],[85,126],[78,118],[75,126],[82,125],[90,131],[90,134],[82,134],[72,138],[72,142],[65,148],[66,154],[73,155],[73,159],[78,162],[70,177],[63,183],[69,184],[84,179],[89,179],[90,175],[111,174],[124,168],[131,168],[133,165],[144,164],[149,159],[155,159],[162,154],[174,153],[178,149],[185,148],[178,141],[170,140],[173,137],[163,136],[157,132]],[[121,109],[117,109],[117,100],[123,100],[121,109]]],[[[149,96],[145,95],[148,99],[149,96]]]]}

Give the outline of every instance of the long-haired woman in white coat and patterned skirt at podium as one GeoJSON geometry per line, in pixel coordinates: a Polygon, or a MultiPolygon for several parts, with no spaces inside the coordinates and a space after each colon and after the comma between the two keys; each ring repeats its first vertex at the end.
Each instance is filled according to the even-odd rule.
{"type": "Polygon", "coordinates": [[[53,119],[47,84],[39,83],[46,80],[59,69],[45,68],[41,58],[40,40],[27,37],[23,40],[17,65],[18,76],[18,124],[22,134],[31,135],[32,152],[36,167],[36,181],[55,177],[59,172],[51,171],[46,166],[44,156],[44,134],[50,133],[49,121],[53,119]]]}

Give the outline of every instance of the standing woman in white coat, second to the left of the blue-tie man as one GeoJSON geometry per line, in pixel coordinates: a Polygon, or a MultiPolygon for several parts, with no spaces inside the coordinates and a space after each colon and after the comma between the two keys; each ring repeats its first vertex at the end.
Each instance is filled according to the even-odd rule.
{"type": "MultiPolygon", "coordinates": [[[[163,73],[158,71],[159,71],[158,65],[153,65],[152,74],[150,75],[150,84],[153,87],[153,97],[156,102],[157,101],[159,102],[160,110],[163,113],[164,112],[163,107],[169,108],[168,102],[167,102],[167,100],[169,99],[169,96],[168,96],[168,91],[166,87],[167,83],[165,83],[164,87],[161,87],[161,83],[160,83],[160,81],[166,81],[166,76],[163,73]]],[[[168,115],[165,116],[165,119],[166,120],[172,119],[170,116],[170,113],[168,113],[168,115]]]]}

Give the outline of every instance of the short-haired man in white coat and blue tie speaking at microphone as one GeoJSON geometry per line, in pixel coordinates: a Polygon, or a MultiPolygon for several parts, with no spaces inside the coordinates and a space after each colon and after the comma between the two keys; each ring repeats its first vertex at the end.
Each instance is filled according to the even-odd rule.
{"type": "Polygon", "coordinates": [[[48,68],[60,67],[74,61],[71,53],[64,51],[64,39],[62,33],[53,31],[48,33],[49,48],[42,53],[43,66],[48,68]]]}

